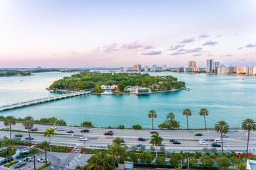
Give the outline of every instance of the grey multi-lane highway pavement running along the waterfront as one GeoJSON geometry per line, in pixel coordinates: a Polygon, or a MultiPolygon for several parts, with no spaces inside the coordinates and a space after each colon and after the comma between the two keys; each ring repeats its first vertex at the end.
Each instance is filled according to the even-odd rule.
{"type": "MultiPolygon", "coordinates": [[[[38,132],[43,132],[46,128],[50,128],[50,125],[34,125],[34,127],[38,128],[38,132]]],[[[0,128],[4,128],[2,122],[0,122],[0,128]]],[[[108,129],[102,128],[77,128],[77,127],[67,127],[67,126],[58,126],[58,128],[63,128],[63,131],[56,131],[57,133],[66,133],[68,130],[73,130],[74,133],[72,135],[55,135],[51,137],[51,142],[53,145],[75,145],[78,147],[96,147],[96,148],[106,148],[107,145],[112,144],[112,140],[115,137],[123,137],[125,140],[125,144],[128,147],[132,145],[142,144],[146,146],[146,149],[149,149],[151,146],[150,138],[151,130],[119,130],[112,129],[114,135],[105,136],[104,133],[107,132],[108,129]],[[89,129],[90,132],[80,132],[82,129],[89,129]],[[87,137],[88,141],[78,141],[78,137],[87,137]],[[138,141],[138,137],[144,137],[146,141],[138,141]],[[85,144],[84,144],[85,142],[85,144]]],[[[26,129],[21,125],[21,123],[16,123],[16,125],[12,126],[12,130],[23,130],[26,129]]],[[[162,142],[166,150],[169,151],[201,151],[204,147],[211,148],[210,144],[213,143],[213,140],[218,138],[220,139],[220,135],[217,134],[214,130],[207,131],[187,131],[187,130],[156,130],[159,132],[159,136],[164,139],[162,142]],[[195,136],[196,132],[200,132],[203,136],[195,136]],[[181,142],[181,145],[174,145],[169,142],[170,139],[175,139],[181,142]],[[199,140],[206,140],[209,145],[200,145],[199,140]]],[[[12,135],[18,134],[19,132],[12,132],[12,135]]],[[[25,137],[28,137],[28,133],[21,133],[23,137],[22,140],[25,140],[25,137]]],[[[252,150],[255,144],[256,135],[254,132],[250,133],[250,149],[252,150]]],[[[6,135],[9,137],[9,132],[0,131],[0,137],[6,135]]],[[[33,143],[41,142],[43,140],[48,140],[46,137],[43,137],[41,134],[31,134],[31,137],[34,137],[33,143]]],[[[223,149],[224,150],[234,150],[237,152],[245,151],[247,145],[247,135],[244,130],[230,130],[228,133],[228,137],[223,137],[223,149]]],[[[218,150],[221,147],[217,147],[218,150]]]]}

